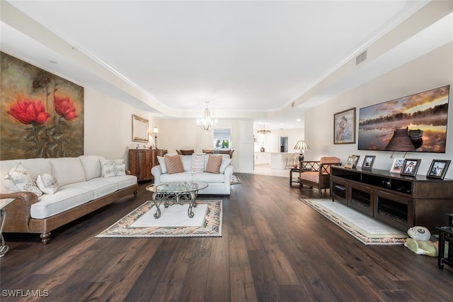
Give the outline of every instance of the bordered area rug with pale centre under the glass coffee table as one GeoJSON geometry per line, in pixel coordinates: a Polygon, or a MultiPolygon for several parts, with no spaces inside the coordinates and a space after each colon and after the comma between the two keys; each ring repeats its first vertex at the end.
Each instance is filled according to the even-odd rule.
{"type": "Polygon", "coordinates": [[[168,208],[162,204],[159,208],[161,217],[156,219],[156,206],[147,201],[96,238],[222,237],[222,201],[197,201],[193,218],[188,218],[188,204],[174,204],[168,208]]]}

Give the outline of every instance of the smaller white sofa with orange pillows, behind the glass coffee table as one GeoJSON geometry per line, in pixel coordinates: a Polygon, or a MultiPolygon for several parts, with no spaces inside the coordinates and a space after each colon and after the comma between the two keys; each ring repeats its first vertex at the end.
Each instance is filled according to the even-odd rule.
{"type": "Polygon", "coordinates": [[[231,159],[229,155],[214,155],[222,157],[222,164],[219,168],[219,174],[206,172],[207,160],[210,155],[203,155],[205,157],[205,170],[203,172],[193,173],[192,171],[192,158],[199,155],[179,155],[183,164],[184,172],[168,174],[164,157],[157,157],[159,165],[151,169],[154,175],[154,184],[160,184],[167,181],[205,181],[208,186],[202,189],[198,194],[230,194],[230,178],[233,174],[233,166],[231,166],[231,159]]]}

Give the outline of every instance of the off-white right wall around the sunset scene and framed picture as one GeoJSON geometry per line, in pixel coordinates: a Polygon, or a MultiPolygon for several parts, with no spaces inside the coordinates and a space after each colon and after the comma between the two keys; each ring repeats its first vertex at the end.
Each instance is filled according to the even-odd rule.
{"type": "MultiPolygon", "coordinates": [[[[361,155],[359,166],[365,155],[376,155],[374,168],[390,169],[393,160],[391,152],[357,150],[356,143],[348,145],[333,144],[333,114],[349,108],[357,108],[356,129],[358,130],[359,109],[362,107],[382,103],[402,96],[415,94],[421,91],[450,86],[449,104],[453,102],[453,43],[444,45],[423,57],[408,62],[372,82],[363,84],[345,94],[342,94],[326,104],[312,108],[305,116],[305,138],[311,150],[305,152],[306,160],[317,160],[321,156],[337,156],[343,161],[349,155],[361,155]],[[323,117],[323,118],[321,118],[323,117]],[[320,122],[322,121],[322,122],[320,122]]],[[[403,157],[404,152],[395,152],[396,157],[403,157]]],[[[421,159],[418,174],[426,175],[433,159],[452,160],[453,157],[453,113],[449,108],[447,125],[447,152],[418,153],[409,152],[406,158],[421,159]]],[[[453,167],[447,171],[447,178],[453,178],[453,167]]]]}

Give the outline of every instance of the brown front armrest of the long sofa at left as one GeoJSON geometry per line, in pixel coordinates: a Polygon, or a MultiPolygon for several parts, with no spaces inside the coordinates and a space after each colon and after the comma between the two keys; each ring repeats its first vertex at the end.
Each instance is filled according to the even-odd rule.
{"type": "Polygon", "coordinates": [[[30,208],[38,202],[38,195],[32,192],[16,192],[0,194],[0,198],[14,198],[14,201],[5,207],[6,221],[4,232],[21,233],[28,232],[30,222],[30,208]]]}

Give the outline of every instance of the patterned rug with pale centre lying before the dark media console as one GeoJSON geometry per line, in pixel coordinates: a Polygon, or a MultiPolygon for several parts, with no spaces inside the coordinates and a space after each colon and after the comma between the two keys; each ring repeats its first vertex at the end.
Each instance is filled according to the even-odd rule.
{"type": "Polygon", "coordinates": [[[343,203],[333,202],[331,199],[301,198],[300,200],[364,245],[402,245],[408,237],[407,233],[345,206],[343,203]]]}

